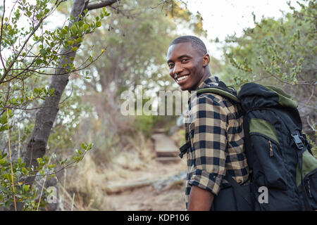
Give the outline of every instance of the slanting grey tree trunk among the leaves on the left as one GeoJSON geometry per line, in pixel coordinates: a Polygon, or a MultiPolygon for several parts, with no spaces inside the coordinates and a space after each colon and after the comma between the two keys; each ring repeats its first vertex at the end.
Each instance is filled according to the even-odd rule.
{"type": "MultiPolygon", "coordinates": [[[[79,20],[79,15],[82,14],[85,8],[87,8],[88,2],[89,1],[87,0],[75,0],[70,15],[76,18],[76,20],[79,20]]],[[[105,1],[102,7],[110,6],[114,2],[116,2],[116,0],[105,1]]],[[[71,27],[72,25],[73,23],[70,22],[68,27],[71,27]]],[[[66,63],[66,59],[68,63],[73,63],[73,60],[70,60],[70,57],[75,58],[76,55],[76,51],[70,51],[70,49],[61,50],[61,53],[64,54],[65,57],[61,58],[54,76],[51,77],[49,89],[55,89],[54,96],[47,97],[42,108],[37,111],[35,128],[33,129],[32,136],[27,144],[27,153],[24,159],[27,167],[33,167],[35,169],[37,167],[37,158],[42,158],[46,153],[47,141],[59,110],[58,104],[61,100],[63,91],[68,84],[69,74],[66,73],[67,68],[63,68],[63,64],[66,63]]],[[[30,176],[25,180],[25,184],[30,184],[32,186],[34,181],[35,177],[30,176]]],[[[23,210],[23,203],[17,203],[17,210],[23,210]]]]}

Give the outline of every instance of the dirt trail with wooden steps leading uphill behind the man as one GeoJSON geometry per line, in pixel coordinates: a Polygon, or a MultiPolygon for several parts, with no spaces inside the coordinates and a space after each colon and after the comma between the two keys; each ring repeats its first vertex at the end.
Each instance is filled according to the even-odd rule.
{"type": "Polygon", "coordinates": [[[178,158],[170,137],[159,133],[152,139],[156,158],[129,171],[125,179],[112,181],[106,190],[107,210],[185,210],[185,159],[178,158]]]}

